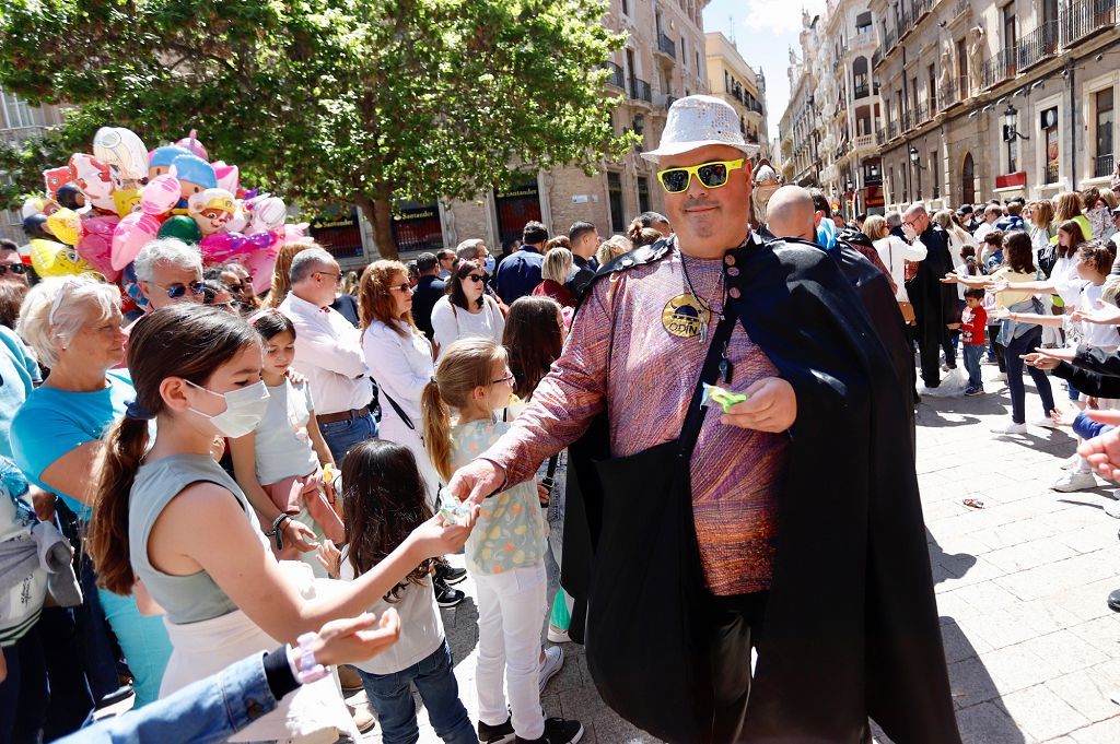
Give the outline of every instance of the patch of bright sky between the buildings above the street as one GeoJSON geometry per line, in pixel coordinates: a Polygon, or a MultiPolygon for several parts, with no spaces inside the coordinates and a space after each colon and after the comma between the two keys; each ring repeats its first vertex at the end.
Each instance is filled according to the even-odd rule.
{"type": "Polygon", "coordinates": [[[801,10],[810,13],[824,10],[824,0],[712,0],[703,11],[706,31],[722,31],[730,37],[734,28],[739,54],[755,69],[766,74],[766,117],[769,136],[777,136],[777,123],[790,101],[786,67],[790,47],[801,47],[801,10]]]}

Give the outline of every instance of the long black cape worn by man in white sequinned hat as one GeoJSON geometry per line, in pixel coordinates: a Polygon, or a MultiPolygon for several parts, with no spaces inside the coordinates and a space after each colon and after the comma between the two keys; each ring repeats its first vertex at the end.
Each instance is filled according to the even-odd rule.
{"type": "MultiPolygon", "coordinates": [[[[596,281],[666,254],[627,254],[596,281]]],[[[856,744],[870,716],[896,744],[958,744],[897,357],[821,248],[753,239],[730,254],[740,321],[797,395],[740,741],[856,744]]],[[[562,583],[578,601],[601,507],[591,460],[609,452],[605,416],[569,448],[562,583]]]]}

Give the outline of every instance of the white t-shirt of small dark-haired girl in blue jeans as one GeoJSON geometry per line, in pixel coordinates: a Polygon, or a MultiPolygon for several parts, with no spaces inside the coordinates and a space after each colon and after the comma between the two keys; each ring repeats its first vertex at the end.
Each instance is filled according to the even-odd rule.
{"type": "MultiPolygon", "coordinates": [[[[343,548],[338,577],[347,582],[356,577],[349,562],[348,546],[343,548]]],[[[362,671],[371,675],[395,674],[423,661],[444,642],[444,619],[439,616],[436,590],[432,588],[430,576],[421,586],[409,584],[400,591],[398,597],[399,601],[393,604],[382,599],[370,608],[370,612],[376,613],[379,619],[389,608],[396,610],[401,615],[401,637],[377,656],[356,662],[354,666],[362,671]]]]}

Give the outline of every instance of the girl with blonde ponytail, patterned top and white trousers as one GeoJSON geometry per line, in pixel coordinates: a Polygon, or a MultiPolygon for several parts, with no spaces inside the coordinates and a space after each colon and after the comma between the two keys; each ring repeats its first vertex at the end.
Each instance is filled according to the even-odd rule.
{"type": "MultiPolygon", "coordinates": [[[[506,361],[505,349],[496,341],[463,339],[442,352],[436,378],[424,387],[424,443],[436,470],[448,481],[508,430],[495,415],[510,405],[513,393],[514,377],[506,361]]],[[[544,549],[544,520],[532,480],[487,499],[478,529],[467,538],[467,571],[478,588],[475,682],[483,741],[508,725],[517,741],[536,741],[548,732],[548,741],[568,742],[582,734],[577,722],[544,721],[541,713],[541,687],[563,663],[560,647],[539,653],[547,593],[544,549]],[[510,690],[508,718],[503,678],[510,690]]]]}

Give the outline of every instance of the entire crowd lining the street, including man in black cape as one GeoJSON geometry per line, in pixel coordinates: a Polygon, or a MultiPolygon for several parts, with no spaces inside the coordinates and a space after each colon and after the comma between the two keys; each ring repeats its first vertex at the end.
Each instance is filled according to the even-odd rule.
{"type": "Polygon", "coordinates": [[[262,295],[160,238],[128,318],[0,244],[0,744],[356,740],[373,721],[342,688],[386,743],[418,740],[414,688],[445,742],[575,744],[541,706],[572,641],[670,742],[869,741],[869,716],[959,742],[914,405],[986,394],[987,355],[1001,434],[1026,431],[1026,369],[1036,423],[1083,439],[1055,488],[1120,474],[1120,209],[848,226],[752,163],[737,121],[675,102],[643,153],[666,214],[606,238],[530,222],[497,256],[472,238],[360,274],[302,239],[262,295]],[[440,614],[467,575],[474,722],[440,614]]]}

